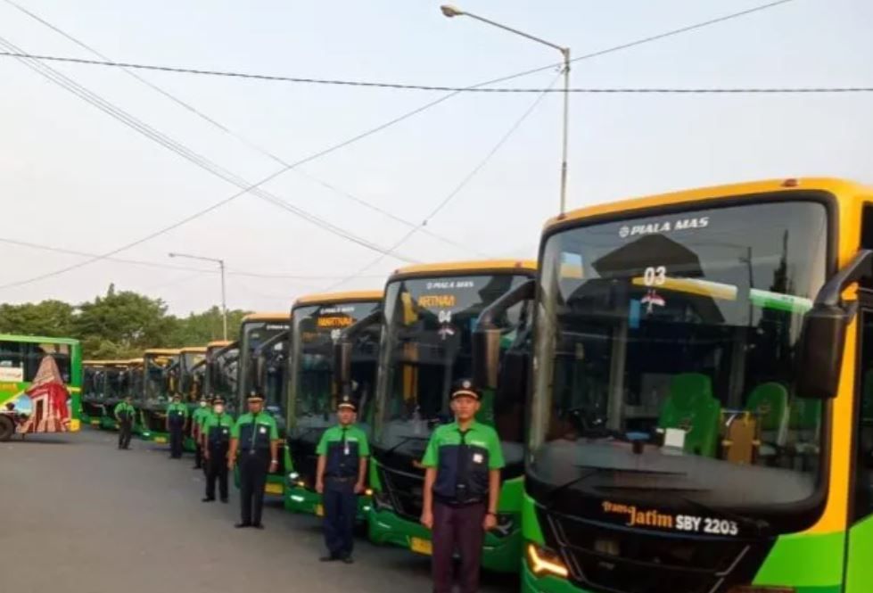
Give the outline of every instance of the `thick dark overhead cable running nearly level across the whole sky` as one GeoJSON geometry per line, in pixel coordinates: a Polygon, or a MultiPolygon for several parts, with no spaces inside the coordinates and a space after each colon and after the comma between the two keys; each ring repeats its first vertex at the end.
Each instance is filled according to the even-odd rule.
{"type": "MultiPolygon", "coordinates": [[[[600,54],[597,54],[600,55],[600,54]]],[[[153,66],[133,62],[109,62],[104,60],[87,60],[85,58],[72,58],[58,55],[45,54],[20,54],[16,52],[0,52],[0,56],[10,58],[26,58],[44,62],[70,62],[87,64],[90,66],[111,66],[123,70],[157,70],[163,72],[177,72],[184,74],[205,74],[211,76],[225,76],[235,78],[257,78],[259,80],[274,80],[283,82],[296,82],[312,85],[328,86],[364,86],[370,88],[388,88],[405,91],[432,91],[440,93],[503,93],[503,94],[526,94],[526,93],[572,93],[574,95],[623,95],[623,94],[658,94],[658,95],[706,95],[706,94],[790,94],[790,93],[870,93],[873,86],[730,86],[730,87],[671,87],[671,86],[586,86],[574,87],[564,90],[563,88],[531,88],[515,86],[438,86],[438,85],[411,85],[396,82],[369,82],[365,80],[332,80],[328,78],[294,78],[271,76],[267,74],[244,74],[242,72],[224,72],[218,70],[194,70],[189,68],[173,68],[169,66],[153,66]]],[[[525,73],[550,70],[548,68],[528,70],[525,73]]],[[[222,127],[223,128],[223,127],[222,127]]],[[[229,130],[226,130],[229,132],[229,130]]]]}

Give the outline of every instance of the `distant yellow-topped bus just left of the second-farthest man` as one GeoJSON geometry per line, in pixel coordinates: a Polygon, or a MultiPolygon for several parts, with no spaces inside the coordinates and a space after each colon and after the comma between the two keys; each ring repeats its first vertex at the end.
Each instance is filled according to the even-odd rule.
{"type": "Polygon", "coordinates": [[[150,348],[143,355],[143,390],[137,395],[134,408],[140,412],[140,436],[146,441],[166,443],[167,406],[180,390],[182,350],[150,348]]]}

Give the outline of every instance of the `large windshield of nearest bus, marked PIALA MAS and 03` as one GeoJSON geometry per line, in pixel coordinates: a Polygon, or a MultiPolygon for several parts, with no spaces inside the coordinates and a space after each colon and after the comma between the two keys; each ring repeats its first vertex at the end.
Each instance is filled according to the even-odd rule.
{"type": "Polygon", "coordinates": [[[827,210],[811,201],[548,237],[531,491],[566,487],[594,508],[611,496],[748,512],[811,499],[822,407],[796,397],[791,378],[827,241],[827,210]]]}

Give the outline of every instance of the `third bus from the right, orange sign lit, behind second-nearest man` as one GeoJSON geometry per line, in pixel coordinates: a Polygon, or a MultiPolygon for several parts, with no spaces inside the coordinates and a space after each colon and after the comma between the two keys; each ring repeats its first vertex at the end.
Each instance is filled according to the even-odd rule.
{"type": "MultiPolygon", "coordinates": [[[[358,401],[358,425],[371,432],[382,295],[382,291],[310,294],[291,309],[284,505],[294,513],[324,515],[321,495],[315,490],[316,448],[325,430],[337,422],[334,346],[350,328],[355,330],[346,379],[350,395],[358,401]]],[[[369,497],[358,497],[360,521],[366,520],[368,511],[369,497]]]]}

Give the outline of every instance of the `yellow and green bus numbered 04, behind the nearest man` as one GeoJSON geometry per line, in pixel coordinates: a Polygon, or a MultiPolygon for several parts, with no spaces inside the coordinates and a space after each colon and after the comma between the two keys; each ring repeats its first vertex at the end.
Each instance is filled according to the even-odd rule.
{"type": "MultiPolygon", "coordinates": [[[[530,261],[486,260],[400,268],[388,278],[371,448],[368,532],[376,543],[432,552],[431,533],[419,523],[424,449],[439,424],[454,420],[452,383],[473,376],[473,337],[482,310],[531,284],[535,274],[530,261]]],[[[518,361],[530,349],[530,317],[529,305],[519,301],[494,321],[500,339],[493,354],[515,360],[507,366],[513,372],[524,368],[518,361]]],[[[484,567],[502,572],[517,571],[521,556],[524,402],[511,392],[519,392],[525,380],[506,375],[496,389],[485,390],[477,416],[498,431],[507,461],[498,527],[486,534],[482,554],[484,567]]]]}

